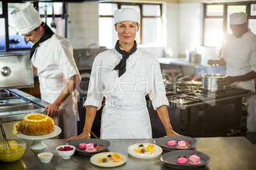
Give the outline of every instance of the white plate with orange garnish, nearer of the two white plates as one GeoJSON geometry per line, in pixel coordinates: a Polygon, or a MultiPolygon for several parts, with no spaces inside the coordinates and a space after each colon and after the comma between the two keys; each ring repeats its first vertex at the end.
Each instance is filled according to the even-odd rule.
{"type": "Polygon", "coordinates": [[[126,157],[123,154],[115,152],[102,152],[93,155],[90,158],[90,162],[100,167],[116,167],[124,164],[126,162],[126,157]]]}

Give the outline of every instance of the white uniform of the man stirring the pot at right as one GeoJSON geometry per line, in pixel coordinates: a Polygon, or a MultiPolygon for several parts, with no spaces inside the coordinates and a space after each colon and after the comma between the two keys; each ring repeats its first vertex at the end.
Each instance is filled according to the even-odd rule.
{"type": "MultiPolygon", "coordinates": [[[[249,30],[237,38],[233,35],[227,37],[222,50],[227,67],[227,75],[245,75],[256,72],[256,36],[249,30]]],[[[253,79],[250,81],[234,82],[231,86],[240,89],[255,91],[253,79]]],[[[247,132],[256,132],[255,95],[248,96],[248,116],[246,122],[247,132]]]]}

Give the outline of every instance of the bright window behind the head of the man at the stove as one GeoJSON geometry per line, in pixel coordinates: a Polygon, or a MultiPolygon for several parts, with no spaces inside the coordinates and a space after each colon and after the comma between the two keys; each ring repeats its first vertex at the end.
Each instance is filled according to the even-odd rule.
{"type": "Polygon", "coordinates": [[[229,27],[229,15],[232,13],[247,13],[248,26],[256,34],[255,6],[255,1],[204,4],[203,45],[222,47],[225,37],[232,34],[229,27]]]}

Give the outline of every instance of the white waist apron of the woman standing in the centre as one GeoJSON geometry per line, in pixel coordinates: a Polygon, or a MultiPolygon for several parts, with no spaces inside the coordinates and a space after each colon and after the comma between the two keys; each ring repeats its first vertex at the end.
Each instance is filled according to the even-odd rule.
{"type": "Polygon", "coordinates": [[[101,139],[143,138],[152,138],[150,117],[146,107],[141,108],[141,110],[134,110],[132,107],[125,110],[114,107],[103,108],[101,139]]]}

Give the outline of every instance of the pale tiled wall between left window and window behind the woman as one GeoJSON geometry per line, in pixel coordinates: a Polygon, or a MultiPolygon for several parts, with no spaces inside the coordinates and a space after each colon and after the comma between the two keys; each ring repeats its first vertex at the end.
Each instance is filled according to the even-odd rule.
{"type": "Polygon", "coordinates": [[[99,3],[69,3],[68,32],[74,49],[84,49],[91,43],[99,44],[99,3]]]}

